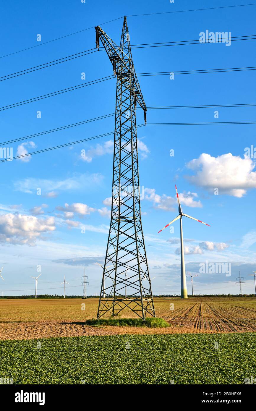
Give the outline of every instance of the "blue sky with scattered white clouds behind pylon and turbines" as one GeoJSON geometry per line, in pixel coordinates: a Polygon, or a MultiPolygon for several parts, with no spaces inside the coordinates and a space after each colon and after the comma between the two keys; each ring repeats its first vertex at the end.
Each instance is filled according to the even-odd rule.
{"type": "MultiPolygon", "coordinates": [[[[240,0],[239,4],[247,4],[240,0]]],[[[233,5],[226,0],[214,7],[233,5]]],[[[212,2],[153,1],[44,1],[2,5],[0,76],[50,62],[95,47],[90,29],[55,42],[51,39],[100,25],[120,16],[212,7],[212,2]],[[37,46],[37,34],[42,42],[37,46]]],[[[131,44],[194,40],[200,32],[231,32],[232,37],[253,35],[255,8],[234,7],[152,16],[127,17],[131,44]]],[[[102,25],[119,44],[122,19],[102,25]]],[[[254,40],[219,44],[138,48],[132,51],[137,73],[175,72],[255,66],[254,40]]],[[[147,106],[255,103],[255,71],[213,74],[138,77],[147,106]]],[[[112,75],[104,51],[2,81],[1,104],[6,106],[86,81],[112,75]],[[86,79],[81,80],[85,72],[86,79]]],[[[8,109],[0,113],[1,142],[113,113],[115,79],[8,109]],[[37,118],[41,111],[41,118],[37,118]]],[[[255,120],[255,107],[148,110],[148,123],[232,122],[255,120]],[[214,111],[219,118],[214,118],[214,111]]],[[[143,113],[137,110],[137,124],[143,113]]],[[[114,118],[13,143],[13,153],[51,146],[112,132],[114,118]],[[21,145],[26,142],[26,145],[21,145]],[[19,147],[18,147],[19,146],[19,147]]],[[[152,291],[180,292],[179,224],[174,233],[159,229],[178,215],[177,184],[183,212],[211,225],[190,219],[183,222],[186,270],[194,274],[199,264],[230,262],[232,272],[200,274],[194,282],[198,293],[235,293],[235,278],[246,280],[245,293],[253,293],[256,270],[255,158],[244,157],[254,145],[255,125],[146,126],[138,128],[143,231],[150,267],[152,291]],[[170,157],[170,150],[174,156],[170,157]],[[230,153],[230,154],[229,154],[230,153]],[[214,195],[214,188],[219,194],[214,195]],[[189,241],[188,241],[189,240],[189,241]],[[249,278],[249,280],[248,280],[249,278]]],[[[6,145],[0,145],[5,147],[6,145]]],[[[9,146],[8,146],[9,147],[9,146]]],[[[89,279],[88,293],[98,294],[106,252],[111,196],[113,136],[103,137],[46,153],[0,163],[0,266],[7,295],[31,294],[41,265],[39,292],[61,293],[64,275],[81,294],[83,266],[89,279]],[[85,150],[86,159],[81,157],[85,150]],[[26,161],[24,161],[26,160],[26,161]],[[41,195],[37,195],[37,189],[41,195]],[[85,233],[81,229],[85,227],[85,233]],[[77,287],[76,287],[77,286],[77,287]],[[47,290],[48,289],[48,290],[47,290]],[[13,291],[17,290],[17,291],[13,291]]],[[[2,281],[2,280],[1,280],[2,281]]],[[[190,292],[190,285],[188,291],[190,292]]]]}

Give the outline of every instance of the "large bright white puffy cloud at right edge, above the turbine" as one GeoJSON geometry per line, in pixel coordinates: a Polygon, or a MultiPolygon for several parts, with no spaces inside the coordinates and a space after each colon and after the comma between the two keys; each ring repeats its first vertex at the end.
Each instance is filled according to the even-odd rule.
{"type": "Polygon", "coordinates": [[[212,193],[218,188],[219,194],[242,197],[248,189],[256,188],[255,162],[247,156],[241,158],[227,153],[212,157],[203,153],[187,163],[187,167],[196,171],[187,179],[212,193]]]}

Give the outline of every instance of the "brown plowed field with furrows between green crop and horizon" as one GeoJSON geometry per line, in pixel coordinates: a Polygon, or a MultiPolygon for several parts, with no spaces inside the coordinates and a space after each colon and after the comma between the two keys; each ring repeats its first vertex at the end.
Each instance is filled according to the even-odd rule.
{"type": "MultiPolygon", "coordinates": [[[[32,339],[117,334],[256,332],[256,298],[155,298],[158,317],[170,328],[86,326],[98,300],[0,300],[0,339],[32,339]],[[85,309],[81,304],[85,303],[85,309]],[[173,307],[172,307],[173,304],[173,307]],[[173,309],[170,309],[173,308],[173,309]]],[[[127,310],[123,317],[135,316],[127,310]]]]}

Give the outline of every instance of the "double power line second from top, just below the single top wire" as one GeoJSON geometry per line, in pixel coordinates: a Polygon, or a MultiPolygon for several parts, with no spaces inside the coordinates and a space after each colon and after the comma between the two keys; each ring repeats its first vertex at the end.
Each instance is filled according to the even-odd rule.
{"type": "MultiPolygon", "coordinates": [[[[256,36],[256,35],[236,36],[236,37],[231,37],[231,40],[233,42],[234,41],[240,41],[240,40],[256,40],[256,37],[250,38],[250,39],[249,38],[240,39],[240,37],[253,37],[253,36],[256,36]]],[[[210,44],[210,43],[221,43],[221,42],[222,42],[221,40],[220,41],[214,41],[214,42],[200,42],[199,39],[196,39],[196,40],[182,40],[182,41],[176,41],[176,42],[134,44],[134,45],[131,45],[131,48],[136,49],[136,48],[148,48],[148,47],[184,46],[184,45],[190,45],[190,44],[203,44],[203,43],[210,44]]],[[[103,48],[100,48],[100,49],[99,48],[97,48],[97,49],[90,48],[89,50],[84,50],[84,51],[81,51],[79,53],[71,54],[71,55],[59,58],[57,60],[53,60],[51,62],[42,63],[42,64],[37,65],[35,67],[30,67],[28,69],[20,70],[19,72],[16,72],[16,73],[6,74],[5,76],[0,77],[0,81],[13,79],[14,77],[23,76],[23,74],[28,74],[28,73],[31,73],[31,72],[35,72],[37,70],[45,69],[47,67],[51,67],[51,66],[54,66],[56,64],[65,63],[66,61],[74,60],[75,58],[79,58],[79,57],[83,57],[84,55],[95,53],[98,50],[101,51],[101,50],[103,50],[103,48]],[[41,66],[44,66],[44,67],[41,67],[41,66]]]]}

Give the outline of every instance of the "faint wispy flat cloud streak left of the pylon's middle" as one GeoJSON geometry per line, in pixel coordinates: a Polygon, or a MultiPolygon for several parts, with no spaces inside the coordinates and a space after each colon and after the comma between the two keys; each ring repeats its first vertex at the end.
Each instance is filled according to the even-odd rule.
{"type": "Polygon", "coordinates": [[[41,188],[42,194],[48,197],[54,197],[55,190],[67,191],[67,190],[79,190],[86,187],[95,187],[99,185],[103,180],[103,175],[99,173],[94,174],[81,174],[74,173],[72,177],[65,178],[63,180],[49,180],[43,178],[25,178],[24,180],[17,180],[14,182],[14,188],[16,191],[23,193],[35,193],[37,188],[41,188]]]}

